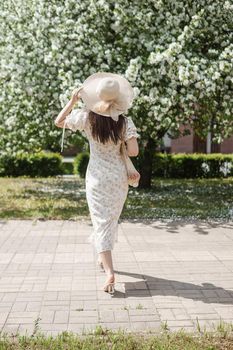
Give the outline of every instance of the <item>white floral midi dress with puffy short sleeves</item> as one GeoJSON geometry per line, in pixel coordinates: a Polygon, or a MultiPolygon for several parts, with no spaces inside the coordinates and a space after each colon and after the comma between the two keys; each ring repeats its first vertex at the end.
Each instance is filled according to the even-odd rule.
{"type": "MultiPolygon", "coordinates": [[[[112,140],[101,143],[93,139],[85,108],[74,109],[67,116],[65,128],[81,131],[90,145],[90,159],[85,176],[86,198],[93,225],[88,237],[97,253],[112,250],[118,241],[118,220],[127,194],[128,181],[125,164],[120,154],[120,144],[112,140]]],[[[124,140],[140,137],[131,117],[126,118],[124,140]]]]}

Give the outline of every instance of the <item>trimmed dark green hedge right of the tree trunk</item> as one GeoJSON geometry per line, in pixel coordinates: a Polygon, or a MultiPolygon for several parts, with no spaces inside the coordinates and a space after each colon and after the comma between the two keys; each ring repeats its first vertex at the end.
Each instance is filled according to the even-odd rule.
{"type": "Polygon", "coordinates": [[[153,176],[166,178],[219,178],[233,176],[233,155],[222,153],[156,153],[153,176]]]}

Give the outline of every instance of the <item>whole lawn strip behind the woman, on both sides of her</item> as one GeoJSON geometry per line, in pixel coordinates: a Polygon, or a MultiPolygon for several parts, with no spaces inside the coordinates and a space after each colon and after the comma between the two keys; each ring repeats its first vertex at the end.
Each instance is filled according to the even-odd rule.
{"type": "MultiPolygon", "coordinates": [[[[0,218],[88,218],[85,180],[76,177],[0,178],[0,218]]],[[[153,179],[129,187],[122,219],[233,219],[233,178],[153,179]]]]}

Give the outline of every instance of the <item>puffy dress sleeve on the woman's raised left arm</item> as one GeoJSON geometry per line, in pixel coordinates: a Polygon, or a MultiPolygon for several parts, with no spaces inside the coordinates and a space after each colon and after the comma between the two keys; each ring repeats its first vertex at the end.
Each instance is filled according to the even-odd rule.
{"type": "Polygon", "coordinates": [[[85,129],[88,112],[84,109],[73,109],[65,119],[65,127],[72,131],[85,129]]]}

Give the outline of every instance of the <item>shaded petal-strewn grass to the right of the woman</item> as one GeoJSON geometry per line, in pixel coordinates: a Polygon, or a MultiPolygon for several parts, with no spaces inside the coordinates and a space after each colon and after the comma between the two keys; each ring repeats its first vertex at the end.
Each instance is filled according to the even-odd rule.
{"type": "Polygon", "coordinates": [[[125,218],[233,219],[233,178],[153,179],[150,190],[129,190],[125,218]]]}

